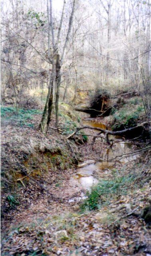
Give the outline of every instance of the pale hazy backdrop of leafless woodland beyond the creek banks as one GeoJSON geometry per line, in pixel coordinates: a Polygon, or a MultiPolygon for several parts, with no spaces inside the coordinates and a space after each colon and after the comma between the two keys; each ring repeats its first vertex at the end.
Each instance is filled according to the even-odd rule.
{"type": "Polygon", "coordinates": [[[133,89],[150,114],[150,0],[7,0],[1,5],[1,104],[36,108],[38,99],[44,105],[52,93],[58,119],[58,99],[77,104],[85,90],[114,95],[133,89]]]}

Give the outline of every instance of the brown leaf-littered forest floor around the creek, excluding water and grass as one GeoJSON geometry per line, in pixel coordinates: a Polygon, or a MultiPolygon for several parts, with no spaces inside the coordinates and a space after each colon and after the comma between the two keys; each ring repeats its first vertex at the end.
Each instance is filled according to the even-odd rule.
{"type": "MultiPolygon", "coordinates": [[[[47,144],[51,144],[51,148],[56,148],[59,144],[65,151],[68,148],[68,156],[64,156],[66,161],[63,167],[60,162],[54,162],[54,166],[47,163],[48,170],[42,176],[36,170],[37,159],[32,159],[32,163],[26,163],[26,167],[28,169],[32,164],[37,171],[36,175],[24,173],[27,174],[26,179],[16,176],[16,179],[22,181],[16,182],[17,190],[16,186],[12,188],[12,191],[17,192],[2,192],[2,256],[150,256],[150,226],[143,218],[133,215],[149,205],[147,198],[151,196],[150,152],[127,163],[115,162],[111,172],[109,168],[104,168],[102,173],[105,180],[113,181],[115,176],[123,178],[132,173],[135,173],[135,178],[129,184],[125,183],[125,193],[120,192],[121,188],[118,193],[114,190],[110,192],[109,189],[100,198],[100,209],[86,208],[82,212],[81,202],[70,202],[70,199],[80,196],[81,190],[76,184],[70,184],[70,178],[76,174],[76,164],[69,159],[74,152],[75,158],[81,162],[99,160],[101,152],[107,150],[109,144],[97,139],[92,148],[93,136],[89,136],[89,140],[82,144],[67,142],[67,135],[54,129],[50,129],[47,136],[44,136],[37,130],[39,118],[40,114],[37,114],[31,121],[35,124],[34,128],[28,127],[28,124],[20,127],[12,120],[2,120],[2,164],[5,170],[9,168],[9,164],[11,168],[16,164],[16,172],[23,170],[25,156],[36,154],[33,148],[37,147],[40,152],[38,162],[41,163],[42,170],[47,144]],[[115,170],[118,172],[115,173],[115,170]],[[8,200],[11,193],[17,195],[13,204],[8,200]],[[108,203],[105,204],[105,200],[108,203]],[[130,212],[127,212],[127,206],[131,207],[130,212]]],[[[102,119],[97,118],[95,121],[102,122],[102,119]]],[[[53,121],[51,127],[55,127],[53,121]]],[[[85,133],[94,135],[92,130],[85,130],[85,133]]],[[[135,149],[134,145],[133,150],[135,149]]],[[[2,181],[7,183],[6,176],[2,181]]]]}

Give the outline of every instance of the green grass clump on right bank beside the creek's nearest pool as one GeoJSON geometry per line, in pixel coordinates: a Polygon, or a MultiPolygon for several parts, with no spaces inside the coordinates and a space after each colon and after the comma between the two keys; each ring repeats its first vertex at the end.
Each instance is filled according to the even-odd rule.
{"type": "Polygon", "coordinates": [[[101,180],[96,186],[87,192],[87,199],[81,204],[81,210],[96,210],[102,205],[108,205],[115,196],[127,194],[129,184],[133,182],[134,176],[125,176],[113,180],[101,180]]]}

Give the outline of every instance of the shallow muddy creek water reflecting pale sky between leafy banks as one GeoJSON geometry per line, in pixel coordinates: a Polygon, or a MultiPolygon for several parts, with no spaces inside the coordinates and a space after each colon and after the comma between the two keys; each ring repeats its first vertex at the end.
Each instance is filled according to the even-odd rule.
{"type": "MultiPolygon", "coordinates": [[[[105,124],[97,123],[93,119],[83,120],[83,125],[106,129],[105,124]]],[[[101,162],[86,160],[77,166],[76,173],[68,181],[68,188],[65,194],[62,195],[63,197],[70,196],[70,200],[68,200],[69,203],[78,202],[87,198],[85,196],[87,190],[91,190],[91,186],[97,184],[100,179],[105,179],[111,174],[111,170],[113,170],[113,168],[115,169],[115,161],[122,165],[129,161],[131,162],[138,157],[138,155],[126,155],[125,157],[116,158],[117,156],[127,154],[134,149],[133,144],[126,142],[119,136],[109,135],[109,140],[113,137],[113,148],[107,147],[103,150],[100,156],[101,162]],[[113,158],[115,159],[112,160],[113,158]]],[[[97,141],[95,143],[97,143],[97,141]]]]}

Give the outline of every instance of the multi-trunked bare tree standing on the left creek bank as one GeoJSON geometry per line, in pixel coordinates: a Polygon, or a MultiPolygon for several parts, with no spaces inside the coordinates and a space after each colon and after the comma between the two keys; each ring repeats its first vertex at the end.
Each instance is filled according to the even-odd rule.
{"type": "MultiPolygon", "coordinates": [[[[65,55],[65,52],[66,52],[67,43],[69,41],[69,36],[70,36],[70,32],[71,32],[71,27],[72,27],[72,20],[73,20],[74,11],[75,11],[76,0],[73,1],[72,12],[71,12],[70,19],[69,19],[67,34],[66,34],[66,38],[64,40],[64,46],[63,46],[62,53],[60,53],[59,49],[58,49],[58,44],[59,44],[59,40],[60,40],[60,32],[61,32],[61,29],[62,29],[62,23],[63,23],[63,19],[64,19],[65,4],[66,4],[66,0],[64,0],[64,5],[63,5],[63,9],[62,9],[62,16],[61,16],[60,25],[59,25],[59,28],[58,28],[58,34],[57,34],[56,42],[55,42],[55,36],[54,36],[52,0],[50,0],[50,10],[48,10],[48,19],[49,19],[49,15],[50,15],[49,33],[50,33],[50,30],[51,30],[53,52],[52,52],[52,55],[49,56],[50,61],[52,63],[52,72],[51,72],[51,77],[50,77],[50,85],[49,85],[49,89],[48,89],[47,100],[46,100],[42,120],[40,122],[40,129],[42,130],[42,132],[46,132],[48,130],[48,126],[49,126],[50,119],[51,119],[52,104],[53,104],[53,90],[54,90],[53,89],[53,81],[54,81],[54,79],[55,79],[55,82],[56,82],[56,101],[55,101],[56,126],[58,126],[58,103],[59,103],[59,96],[60,96],[61,67],[64,63],[64,55],[65,55]]],[[[50,40],[50,35],[48,36],[48,38],[50,40]]],[[[50,46],[49,41],[48,41],[48,46],[50,46]]],[[[49,55],[50,55],[50,52],[49,52],[49,55]]]]}

